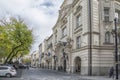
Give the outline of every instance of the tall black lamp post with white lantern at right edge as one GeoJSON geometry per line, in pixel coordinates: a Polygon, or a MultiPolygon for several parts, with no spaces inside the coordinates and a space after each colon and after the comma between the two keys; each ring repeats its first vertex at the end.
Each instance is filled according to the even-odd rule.
{"type": "Polygon", "coordinates": [[[117,18],[118,14],[115,14],[115,72],[116,76],[115,79],[118,80],[118,45],[117,45],[117,18]]]}

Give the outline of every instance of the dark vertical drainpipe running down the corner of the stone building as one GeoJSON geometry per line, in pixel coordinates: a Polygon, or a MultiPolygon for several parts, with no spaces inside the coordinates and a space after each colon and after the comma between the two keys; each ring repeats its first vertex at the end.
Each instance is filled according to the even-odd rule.
{"type": "Polygon", "coordinates": [[[92,0],[88,2],[88,13],[89,13],[89,37],[88,37],[88,75],[92,76],[92,17],[91,17],[91,3],[92,0]]]}

